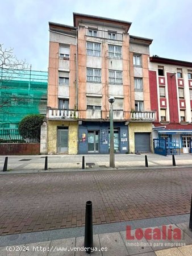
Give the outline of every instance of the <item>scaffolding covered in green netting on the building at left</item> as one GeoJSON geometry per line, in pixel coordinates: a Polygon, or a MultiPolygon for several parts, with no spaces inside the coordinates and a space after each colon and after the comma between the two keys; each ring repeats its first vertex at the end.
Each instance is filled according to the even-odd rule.
{"type": "Polygon", "coordinates": [[[28,114],[46,114],[48,72],[0,69],[0,129],[18,128],[28,114]]]}

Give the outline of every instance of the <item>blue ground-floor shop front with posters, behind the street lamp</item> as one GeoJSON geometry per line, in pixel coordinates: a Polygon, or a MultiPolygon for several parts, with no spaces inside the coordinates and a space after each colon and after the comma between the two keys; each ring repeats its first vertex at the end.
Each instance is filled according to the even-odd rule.
{"type": "MultiPolygon", "coordinates": [[[[79,154],[108,154],[110,148],[110,122],[86,122],[78,126],[79,154]]],[[[128,151],[128,126],[125,122],[114,122],[114,150],[128,151]]]]}

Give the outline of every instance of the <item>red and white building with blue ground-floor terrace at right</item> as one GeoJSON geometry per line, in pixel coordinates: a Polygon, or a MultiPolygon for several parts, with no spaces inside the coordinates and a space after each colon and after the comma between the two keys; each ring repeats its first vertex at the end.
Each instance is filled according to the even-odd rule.
{"type": "Polygon", "coordinates": [[[192,63],[149,58],[153,138],[164,138],[167,154],[190,152],[192,139],[192,63]]]}

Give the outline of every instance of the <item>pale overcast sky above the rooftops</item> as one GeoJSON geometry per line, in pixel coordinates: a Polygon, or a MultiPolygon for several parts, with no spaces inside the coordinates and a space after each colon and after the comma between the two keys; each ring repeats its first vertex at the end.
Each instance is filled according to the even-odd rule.
{"type": "Polygon", "coordinates": [[[0,43],[32,69],[47,71],[48,22],[73,26],[73,12],[132,22],[153,39],[150,55],[192,62],[191,0],[1,0],[0,43]]]}

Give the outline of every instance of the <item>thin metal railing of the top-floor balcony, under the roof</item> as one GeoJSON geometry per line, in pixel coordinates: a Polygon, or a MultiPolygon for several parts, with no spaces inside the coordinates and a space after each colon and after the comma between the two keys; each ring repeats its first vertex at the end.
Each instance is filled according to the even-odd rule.
{"type": "Polygon", "coordinates": [[[85,28],[85,30],[86,30],[86,36],[91,36],[94,38],[111,39],[116,41],[123,40],[123,34],[120,34],[120,33],[109,32],[104,30],[92,30],[89,28],[85,28]],[[89,31],[92,31],[92,32],[89,32],[89,31]]]}

